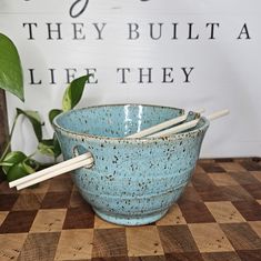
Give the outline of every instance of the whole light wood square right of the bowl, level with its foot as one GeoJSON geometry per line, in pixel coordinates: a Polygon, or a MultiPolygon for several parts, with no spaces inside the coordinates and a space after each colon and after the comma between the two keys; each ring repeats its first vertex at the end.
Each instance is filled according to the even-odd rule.
{"type": "Polygon", "coordinates": [[[245,222],[245,219],[230,201],[205,202],[218,223],[245,222]]]}

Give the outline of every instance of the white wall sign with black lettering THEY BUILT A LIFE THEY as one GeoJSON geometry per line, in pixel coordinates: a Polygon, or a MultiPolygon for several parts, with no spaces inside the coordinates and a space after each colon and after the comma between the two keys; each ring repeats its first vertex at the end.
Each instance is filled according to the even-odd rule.
{"type": "MultiPolygon", "coordinates": [[[[260,8],[258,0],[1,1],[0,30],[18,46],[26,83],[24,104],[8,96],[9,119],[20,107],[47,121],[67,83],[92,73],[81,107],[228,108],[201,155],[261,155],[260,8]]],[[[14,148],[30,151],[28,131],[23,124],[14,148]]]]}

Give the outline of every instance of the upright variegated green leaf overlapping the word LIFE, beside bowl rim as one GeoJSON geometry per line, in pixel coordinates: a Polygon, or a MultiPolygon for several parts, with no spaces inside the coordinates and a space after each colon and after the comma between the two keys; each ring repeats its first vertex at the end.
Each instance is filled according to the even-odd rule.
{"type": "Polygon", "coordinates": [[[81,100],[86,82],[91,76],[92,74],[80,77],[69,84],[62,98],[63,111],[69,111],[78,104],[78,102],[81,100]]]}

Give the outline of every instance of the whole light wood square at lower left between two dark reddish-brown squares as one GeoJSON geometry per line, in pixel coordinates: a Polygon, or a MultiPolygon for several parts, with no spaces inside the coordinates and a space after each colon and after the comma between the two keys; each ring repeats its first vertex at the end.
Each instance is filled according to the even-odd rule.
{"type": "Polygon", "coordinates": [[[61,231],[66,214],[66,209],[39,210],[30,232],[61,231]]]}

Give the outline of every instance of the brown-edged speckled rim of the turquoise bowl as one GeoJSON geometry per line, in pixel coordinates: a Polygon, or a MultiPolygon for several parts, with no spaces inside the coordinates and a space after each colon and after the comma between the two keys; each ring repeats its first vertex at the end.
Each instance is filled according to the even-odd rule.
{"type": "Polygon", "coordinates": [[[204,124],[195,130],[191,130],[191,131],[187,131],[187,132],[182,132],[182,133],[177,133],[177,134],[172,134],[170,137],[164,137],[164,138],[118,138],[118,137],[107,137],[107,135],[94,135],[94,134],[88,134],[88,133],[82,133],[82,132],[77,132],[77,131],[71,131],[68,130],[63,127],[61,127],[57,121],[59,120],[59,118],[62,118],[69,113],[72,113],[72,111],[81,111],[81,110],[88,110],[88,109],[94,109],[94,108],[101,108],[101,107],[126,107],[126,106],[133,106],[133,107],[138,107],[138,106],[142,106],[142,107],[158,107],[158,108],[167,108],[167,109],[175,109],[175,110],[181,110],[182,112],[184,112],[184,109],[180,109],[177,107],[169,107],[169,106],[159,106],[159,104],[145,104],[145,103],[112,103],[112,104],[99,104],[99,106],[90,106],[90,107],[84,107],[84,108],[80,108],[80,109],[72,109],[69,111],[64,111],[60,114],[58,114],[53,121],[52,121],[52,126],[54,128],[54,130],[59,130],[61,132],[64,132],[66,134],[69,134],[73,138],[84,138],[84,139],[91,139],[91,140],[101,140],[101,141],[116,141],[116,142],[120,142],[120,141],[127,141],[127,142],[145,142],[145,143],[150,143],[150,142],[155,142],[155,141],[171,141],[171,140],[177,140],[177,139],[184,139],[188,138],[189,135],[197,135],[199,132],[204,131],[209,128],[210,121],[205,118],[205,117],[201,117],[204,121],[204,124]]]}

